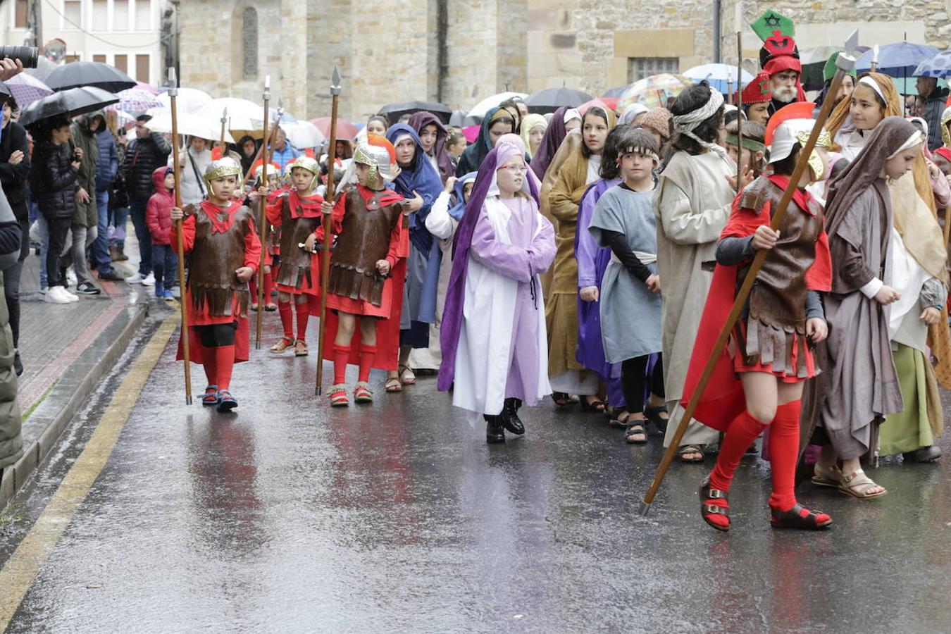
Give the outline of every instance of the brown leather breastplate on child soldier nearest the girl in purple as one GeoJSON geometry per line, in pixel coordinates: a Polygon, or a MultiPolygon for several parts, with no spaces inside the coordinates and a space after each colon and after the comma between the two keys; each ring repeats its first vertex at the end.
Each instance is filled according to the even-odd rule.
{"type": "Polygon", "coordinates": [[[364,204],[356,188],[347,191],[340,238],[330,263],[327,291],[343,298],[361,299],[379,306],[383,282],[377,262],[390,250],[390,234],[407,202],[382,206],[379,195],[364,204]]]}

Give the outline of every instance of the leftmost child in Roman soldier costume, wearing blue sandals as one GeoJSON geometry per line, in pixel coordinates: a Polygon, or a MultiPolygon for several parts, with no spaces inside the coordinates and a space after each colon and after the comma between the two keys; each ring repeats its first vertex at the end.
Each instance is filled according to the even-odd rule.
{"type": "MultiPolygon", "coordinates": [[[[224,158],[204,172],[208,199],[186,214],[173,207],[173,221],[183,220],[184,252],[188,254],[188,279],[184,302],[188,310],[188,343],[191,360],[204,365],[208,387],[202,404],[219,412],[238,407],[229,392],[234,364],[248,359],[249,328],[247,282],[261,258],[261,240],[254,212],[233,200],[242,178],[241,164],[224,158]]],[[[170,237],[175,228],[169,231],[170,237]]],[[[183,358],[179,341],[178,358],[183,358]]]]}

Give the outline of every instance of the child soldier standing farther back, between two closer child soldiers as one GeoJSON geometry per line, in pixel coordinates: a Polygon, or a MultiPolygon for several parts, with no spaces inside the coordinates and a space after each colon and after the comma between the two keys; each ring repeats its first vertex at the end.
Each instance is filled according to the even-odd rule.
{"type": "MultiPolygon", "coordinates": [[[[320,179],[320,164],[307,156],[289,163],[291,187],[274,202],[267,205],[267,221],[281,228],[281,270],[275,282],[278,286],[278,313],[284,336],[271,346],[271,352],[280,355],[294,348],[295,356],[307,355],[307,321],[313,304],[320,297],[320,255],[310,238],[320,226],[320,202],[315,193],[320,179]],[[293,302],[291,298],[294,298],[293,302]],[[291,304],[297,311],[297,337],[291,304]]],[[[264,196],[266,187],[259,189],[264,196]]]]}

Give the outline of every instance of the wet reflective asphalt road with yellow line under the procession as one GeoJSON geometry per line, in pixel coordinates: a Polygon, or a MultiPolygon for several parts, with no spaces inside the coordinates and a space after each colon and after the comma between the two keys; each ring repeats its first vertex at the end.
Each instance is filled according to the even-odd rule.
{"type": "MultiPolygon", "coordinates": [[[[184,406],[174,342],[8,631],[951,630],[946,462],[870,471],[889,490],[872,502],[804,485],[835,520],[815,534],[768,527],[767,466],[745,460],[721,534],[697,509],[711,459],[675,464],[642,518],[659,439],[628,446],[600,415],[549,401],[490,447],[435,378],[387,395],[375,374],[373,406],[332,412],[313,396],[316,352],[262,350],[226,417],[184,406]]],[[[8,511],[0,563],[75,454],[8,511]]]]}

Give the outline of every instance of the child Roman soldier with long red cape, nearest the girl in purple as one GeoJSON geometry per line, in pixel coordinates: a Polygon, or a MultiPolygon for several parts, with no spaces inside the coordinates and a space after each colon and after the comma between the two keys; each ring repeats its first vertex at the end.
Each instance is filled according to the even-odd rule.
{"type": "MultiPolygon", "coordinates": [[[[332,230],[338,235],[330,261],[324,328],[325,358],[334,362],[333,407],[350,404],[345,384],[348,363],[359,365],[354,390],[358,403],[373,402],[372,368],[397,368],[409,255],[405,217],[410,206],[386,187],[396,162],[393,144],[370,135],[366,143],[358,145],[336,202],[323,203],[323,212],[333,214],[332,230]]],[[[322,226],[313,237],[323,240],[322,226]]]]}

